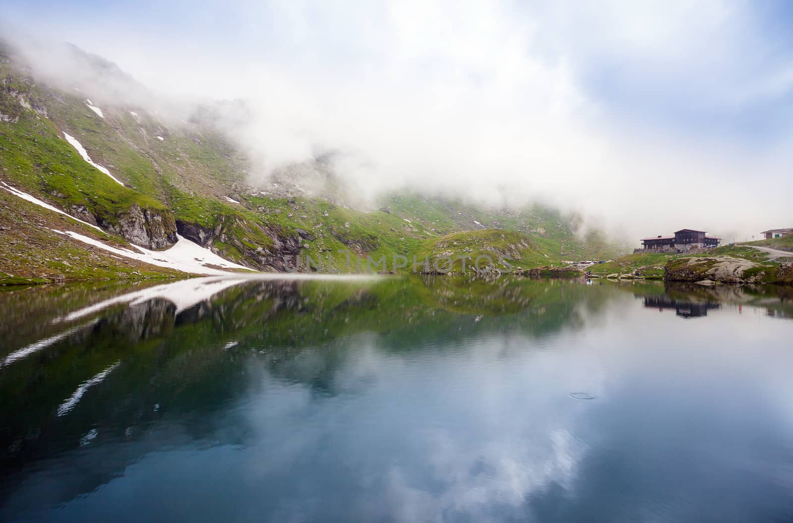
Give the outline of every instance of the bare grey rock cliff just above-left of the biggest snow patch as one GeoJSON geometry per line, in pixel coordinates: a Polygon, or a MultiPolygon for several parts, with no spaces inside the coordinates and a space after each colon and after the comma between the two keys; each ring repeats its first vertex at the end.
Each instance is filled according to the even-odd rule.
{"type": "Polygon", "coordinates": [[[167,211],[141,209],[132,206],[117,215],[117,223],[99,224],[102,229],[116,233],[140,247],[161,249],[176,243],[176,221],[167,211]]]}

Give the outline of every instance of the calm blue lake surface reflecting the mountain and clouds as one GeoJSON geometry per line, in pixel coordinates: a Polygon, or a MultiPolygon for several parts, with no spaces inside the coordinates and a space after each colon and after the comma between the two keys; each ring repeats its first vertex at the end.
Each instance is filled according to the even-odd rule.
{"type": "Polygon", "coordinates": [[[793,521],[791,299],[511,278],[4,290],[0,521],[793,521]]]}

